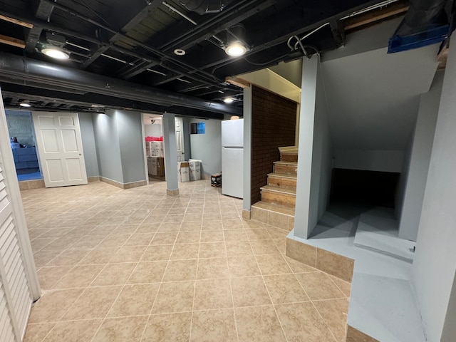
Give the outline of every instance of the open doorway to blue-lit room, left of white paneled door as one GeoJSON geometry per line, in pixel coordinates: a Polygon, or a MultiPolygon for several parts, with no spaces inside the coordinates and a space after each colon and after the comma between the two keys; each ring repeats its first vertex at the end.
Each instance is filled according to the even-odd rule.
{"type": "Polygon", "coordinates": [[[43,174],[38,163],[31,112],[24,110],[5,112],[18,181],[42,180],[43,174]]]}

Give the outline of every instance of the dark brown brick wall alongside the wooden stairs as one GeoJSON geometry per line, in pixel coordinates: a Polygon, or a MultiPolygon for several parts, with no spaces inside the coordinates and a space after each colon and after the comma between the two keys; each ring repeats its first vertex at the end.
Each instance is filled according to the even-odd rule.
{"type": "Polygon", "coordinates": [[[294,101],[253,86],[252,88],[252,204],[261,199],[279,147],[294,146],[297,105],[294,101]]]}

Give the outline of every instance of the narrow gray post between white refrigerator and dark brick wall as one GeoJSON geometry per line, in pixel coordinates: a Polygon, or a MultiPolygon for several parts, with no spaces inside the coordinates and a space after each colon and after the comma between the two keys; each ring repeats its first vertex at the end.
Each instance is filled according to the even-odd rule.
{"type": "Polygon", "coordinates": [[[252,86],[244,89],[244,192],[242,217],[250,219],[252,206],[252,86]]]}

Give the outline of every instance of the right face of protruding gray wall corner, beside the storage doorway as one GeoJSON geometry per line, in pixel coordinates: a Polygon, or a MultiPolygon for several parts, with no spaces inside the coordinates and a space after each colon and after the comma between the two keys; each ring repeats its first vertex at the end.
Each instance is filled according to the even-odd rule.
{"type": "Polygon", "coordinates": [[[126,110],[116,112],[123,183],[145,180],[142,114],[126,110]]]}

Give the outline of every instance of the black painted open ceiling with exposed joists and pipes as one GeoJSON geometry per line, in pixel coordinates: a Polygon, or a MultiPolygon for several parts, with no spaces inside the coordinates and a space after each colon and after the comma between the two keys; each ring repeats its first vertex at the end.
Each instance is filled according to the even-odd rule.
{"type": "MultiPolygon", "coordinates": [[[[322,24],[328,23],[302,41],[304,46],[309,46],[306,53],[338,48],[343,45],[348,22],[351,26],[358,22],[354,26],[361,27],[364,20],[361,17],[366,18],[366,12],[348,16],[382,3],[378,0],[183,2],[190,2],[189,8],[201,4],[203,9],[207,5],[222,11],[199,14],[179,0],[0,0],[0,35],[6,37],[0,39],[3,42],[0,52],[43,61],[47,66],[56,64],[76,72],[129,82],[123,84],[166,90],[171,97],[175,93],[205,103],[219,103],[222,108],[226,106],[222,99],[231,96],[234,103],[229,106],[240,110],[242,88],[227,83],[227,77],[301,58],[302,49],[298,45],[291,49],[287,41],[292,36],[303,37],[322,24]],[[232,28],[235,24],[244,25],[244,41],[249,46],[246,55],[238,58],[228,56],[223,49],[227,38],[232,37],[230,32],[235,33],[232,28]],[[70,52],[68,61],[53,60],[39,51],[40,44],[51,34],[63,36],[64,48],[70,52]],[[176,55],[177,48],[184,50],[185,55],[176,55]]],[[[407,1],[388,3],[374,9],[373,16],[382,19],[380,11],[401,14],[407,1]],[[394,11],[394,6],[402,10],[394,11]]],[[[291,38],[291,46],[297,42],[296,37],[291,38]]],[[[68,85],[50,86],[41,78],[24,80],[0,70],[6,108],[19,108],[21,100],[29,100],[35,110],[104,107],[210,116],[209,110],[187,108],[182,103],[170,105],[166,101],[132,100],[96,90],[72,90],[68,85]],[[93,103],[97,106],[91,106],[93,103]]]]}

